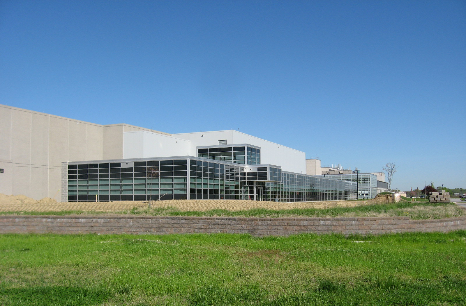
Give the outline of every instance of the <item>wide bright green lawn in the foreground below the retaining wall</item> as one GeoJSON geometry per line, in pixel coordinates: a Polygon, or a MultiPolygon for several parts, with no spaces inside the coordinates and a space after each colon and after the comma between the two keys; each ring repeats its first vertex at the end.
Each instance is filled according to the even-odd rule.
{"type": "Polygon", "coordinates": [[[0,305],[460,306],[465,251],[466,231],[5,234],[0,305]]]}

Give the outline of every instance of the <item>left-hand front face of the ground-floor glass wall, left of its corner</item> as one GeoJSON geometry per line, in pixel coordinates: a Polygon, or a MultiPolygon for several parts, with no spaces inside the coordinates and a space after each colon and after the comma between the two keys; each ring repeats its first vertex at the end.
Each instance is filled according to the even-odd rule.
{"type": "Polygon", "coordinates": [[[69,201],[183,200],[187,160],[68,165],[69,201]]]}

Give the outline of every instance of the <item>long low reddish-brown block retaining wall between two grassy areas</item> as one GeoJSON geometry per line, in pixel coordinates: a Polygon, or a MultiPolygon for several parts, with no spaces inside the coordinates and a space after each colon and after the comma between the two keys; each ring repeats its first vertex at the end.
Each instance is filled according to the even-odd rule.
{"type": "Polygon", "coordinates": [[[221,217],[106,217],[0,216],[0,233],[249,233],[288,236],[298,233],[383,234],[449,232],[466,229],[466,217],[410,220],[378,218],[221,218],[221,217]]]}

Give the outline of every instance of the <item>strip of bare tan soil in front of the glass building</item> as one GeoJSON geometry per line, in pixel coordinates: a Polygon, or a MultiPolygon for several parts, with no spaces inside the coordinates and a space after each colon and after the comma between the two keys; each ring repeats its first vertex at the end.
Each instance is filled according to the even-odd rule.
{"type": "MultiPolygon", "coordinates": [[[[386,201],[386,200],[385,200],[386,201]]],[[[153,201],[152,207],[175,207],[181,211],[206,211],[211,209],[226,209],[231,211],[251,208],[267,209],[292,209],[292,208],[327,208],[327,207],[352,207],[357,205],[372,204],[367,201],[319,201],[319,202],[265,202],[248,200],[163,200],[153,201]]],[[[24,195],[6,195],[0,193],[0,211],[2,212],[47,212],[47,211],[105,211],[117,212],[130,210],[131,208],[147,207],[147,201],[114,201],[114,202],[67,202],[59,203],[50,198],[34,200],[24,195]]]]}

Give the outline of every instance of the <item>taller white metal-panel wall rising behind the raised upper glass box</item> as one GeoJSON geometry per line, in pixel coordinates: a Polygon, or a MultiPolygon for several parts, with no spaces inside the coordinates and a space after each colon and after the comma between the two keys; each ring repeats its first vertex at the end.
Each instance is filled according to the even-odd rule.
{"type": "Polygon", "coordinates": [[[173,134],[191,140],[190,155],[197,156],[196,146],[218,146],[219,140],[227,145],[247,143],[260,146],[260,163],[281,166],[283,171],[306,173],[306,153],[263,140],[234,130],[173,134]]]}

